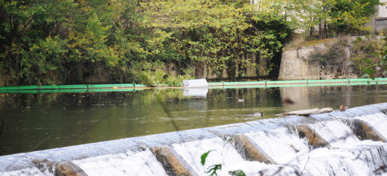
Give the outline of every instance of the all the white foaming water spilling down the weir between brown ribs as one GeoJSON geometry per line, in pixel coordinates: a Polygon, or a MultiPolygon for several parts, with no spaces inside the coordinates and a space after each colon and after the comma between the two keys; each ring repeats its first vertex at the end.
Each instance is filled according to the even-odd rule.
{"type": "MultiPolygon", "coordinates": [[[[353,112],[353,114],[359,114],[357,111],[355,112],[355,110],[353,110],[353,112]]],[[[343,114],[343,112],[340,113],[343,114]]],[[[337,116],[340,116],[340,113],[337,113],[337,116]]],[[[374,113],[371,115],[359,115],[355,118],[364,120],[384,137],[387,136],[387,128],[385,128],[387,125],[387,116],[384,114],[374,113]]],[[[335,119],[335,117],[330,116],[330,118],[325,119],[332,120],[335,119]]],[[[250,124],[253,123],[251,122],[250,124]]],[[[249,125],[248,127],[263,129],[262,126],[265,125],[267,126],[266,123],[260,121],[257,122],[256,125],[249,125]]],[[[360,141],[352,133],[352,130],[340,120],[336,119],[334,121],[317,122],[315,124],[310,124],[310,126],[335,148],[317,148],[309,151],[307,144],[303,139],[299,139],[295,132],[288,130],[288,128],[282,125],[278,128],[265,128],[267,129],[265,132],[248,132],[246,130],[247,128],[241,129],[240,126],[238,126],[238,128],[235,127],[233,131],[240,132],[245,130],[242,133],[249,136],[275,161],[282,164],[288,163],[288,166],[285,166],[280,172],[276,173],[276,175],[295,175],[294,168],[296,168],[299,173],[302,171],[302,175],[374,175],[375,170],[380,170],[380,166],[385,166],[387,164],[386,143],[370,140],[360,141]],[[343,140],[337,140],[340,138],[343,138],[343,140]],[[291,146],[293,146],[293,148],[291,146]],[[299,150],[299,152],[296,152],[294,148],[299,150]]],[[[222,132],[221,130],[219,131],[222,132]]],[[[208,137],[208,135],[206,136],[208,137]]],[[[169,134],[166,138],[173,137],[169,134]]],[[[245,161],[232,145],[223,145],[224,142],[225,141],[221,138],[215,137],[184,143],[177,143],[177,141],[174,141],[175,144],[172,144],[172,147],[174,147],[177,153],[200,175],[208,175],[205,173],[208,166],[219,163],[221,163],[223,167],[222,170],[218,172],[218,175],[228,175],[228,171],[237,169],[243,170],[247,175],[260,175],[260,170],[265,170],[265,175],[271,175],[283,166],[264,164],[256,161],[245,161]],[[203,166],[200,163],[200,156],[204,152],[212,149],[216,149],[216,151],[210,152],[206,165],[203,166]]],[[[113,146],[110,144],[111,142],[108,143],[109,146],[113,146]]],[[[123,144],[122,142],[118,143],[123,144]]],[[[114,146],[118,145],[114,144],[114,146]]],[[[157,162],[149,149],[141,152],[124,152],[125,150],[117,150],[119,151],[118,154],[116,154],[117,152],[108,154],[111,150],[111,148],[107,148],[106,151],[99,156],[94,155],[84,159],[69,160],[72,160],[72,162],[80,166],[88,175],[167,175],[161,164],[157,162]]],[[[67,156],[65,153],[68,153],[66,149],[58,149],[57,151],[58,152],[55,153],[55,155],[52,155],[52,158],[57,158],[57,160],[54,160],[55,162],[63,160],[60,157],[67,156]]],[[[89,152],[88,150],[77,151],[89,152]]],[[[100,150],[92,151],[97,152],[100,150]]],[[[78,152],[73,155],[80,155],[78,152]]],[[[35,152],[35,156],[36,155],[35,152]]],[[[47,157],[48,155],[50,154],[45,153],[44,156],[47,157]]],[[[12,157],[3,157],[2,161],[7,161],[7,158],[12,157]]],[[[19,155],[15,155],[15,158],[19,158],[19,155]]],[[[26,157],[22,158],[26,159],[26,157]]],[[[11,161],[19,160],[20,159],[15,159],[11,161]]],[[[10,164],[4,165],[8,166],[10,164]]],[[[3,170],[3,172],[0,172],[0,175],[52,175],[47,169],[39,170],[32,165],[26,166],[25,164],[20,163],[18,165],[24,167],[13,171],[10,171],[11,169],[5,171],[6,169],[0,168],[0,170],[3,170]]],[[[2,163],[0,163],[0,167],[1,166],[2,163]]]]}

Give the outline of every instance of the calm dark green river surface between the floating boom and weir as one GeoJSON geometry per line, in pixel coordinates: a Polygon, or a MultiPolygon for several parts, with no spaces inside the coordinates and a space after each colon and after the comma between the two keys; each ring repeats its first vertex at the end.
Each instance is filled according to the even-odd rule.
{"type": "Polygon", "coordinates": [[[387,102],[386,85],[0,94],[0,155],[387,102]],[[206,90],[207,91],[207,90],[206,90]],[[244,99],[238,102],[237,99],[244,99]],[[289,99],[291,103],[285,103],[289,99]],[[264,112],[256,117],[255,112],[264,112]]]}

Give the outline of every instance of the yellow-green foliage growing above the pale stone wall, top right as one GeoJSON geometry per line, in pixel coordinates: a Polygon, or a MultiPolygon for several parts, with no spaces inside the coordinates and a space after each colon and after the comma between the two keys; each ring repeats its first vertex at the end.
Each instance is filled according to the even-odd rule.
{"type": "Polygon", "coordinates": [[[331,33],[359,35],[370,30],[364,25],[371,20],[375,6],[382,5],[378,0],[290,0],[284,1],[283,9],[289,14],[291,24],[304,29],[313,36],[315,27],[327,25],[331,33]]]}

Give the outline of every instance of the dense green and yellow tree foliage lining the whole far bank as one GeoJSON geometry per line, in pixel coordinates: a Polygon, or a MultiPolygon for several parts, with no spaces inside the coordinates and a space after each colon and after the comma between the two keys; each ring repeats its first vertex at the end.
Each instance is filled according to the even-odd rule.
{"type": "Polygon", "coordinates": [[[254,55],[269,72],[293,29],[324,22],[361,31],[374,5],[378,1],[0,1],[0,69],[19,84],[93,83],[93,75],[101,75],[177,85],[193,75],[182,70],[203,65],[218,75],[226,68],[244,76],[245,68],[262,66],[252,63],[254,55]],[[163,63],[176,63],[177,76],[160,78],[163,63]]]}

